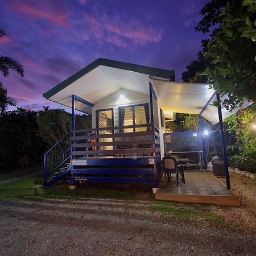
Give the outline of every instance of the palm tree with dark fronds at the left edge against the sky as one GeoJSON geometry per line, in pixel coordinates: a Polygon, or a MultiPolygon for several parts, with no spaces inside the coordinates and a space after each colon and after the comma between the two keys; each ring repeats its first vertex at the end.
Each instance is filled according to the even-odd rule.
{"type": "MultiPolygon", "coordinates": [[[[5,35],[5,31],[0,29],[0,38],[5,35]]],[[[24,76],[23,66],[12,57],[0,55],[0,72],[4,77],[9,76],[10,70],[17,72],[20,76],[24,76]]],[[[7,89],[3,88],[0,82],[0,115],[2,115],[8,106],[16,106],[16,100],[7,96],[7,89]]]]}

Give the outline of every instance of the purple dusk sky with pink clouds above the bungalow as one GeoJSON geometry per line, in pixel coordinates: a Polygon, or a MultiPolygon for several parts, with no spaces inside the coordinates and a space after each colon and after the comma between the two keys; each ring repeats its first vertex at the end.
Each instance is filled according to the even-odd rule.
{"type": "Polygon", "coordinates": [[[0,0],[0,54],[25,76],[0,76],[18,106],[63,108],[43,93],[98,57],[175,69],[181,81],[201,40],[194,27],[209,0],[0,0]]]}

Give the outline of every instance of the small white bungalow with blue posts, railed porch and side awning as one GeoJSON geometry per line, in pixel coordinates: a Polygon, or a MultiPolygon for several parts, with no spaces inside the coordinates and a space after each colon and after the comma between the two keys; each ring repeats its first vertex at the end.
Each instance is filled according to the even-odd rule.
{"type": "MultiPolygon", "coordinates": [[[[212,102],[225,95],[208,84],[175,82],[174,70],[108,59],[97,59],[43,96],[72,108],[72,131],[44,155],[46,187],[67,174],[71,185],[105,181],[158,187],[166,118],[192,113],[222,125],[222,118],[239,109],[216,108],[212,102]],[[92,129],[76,129],[76,110],[92,115],[92,129]]],[[[203,133],[202,139],[205,167],[203,133]]],[[[223,133],[222,146],[229,188],[223,133]]]]}

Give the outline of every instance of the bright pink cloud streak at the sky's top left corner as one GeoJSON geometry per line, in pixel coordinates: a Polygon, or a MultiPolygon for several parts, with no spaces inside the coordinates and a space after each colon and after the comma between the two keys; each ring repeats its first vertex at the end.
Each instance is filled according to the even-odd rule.
{"type": "Polygon", "coordinates": [[[58,8],[58,6],[55,6],[51,2],[48,2],[48,4],[46,4],[46,2],[36,1],[25,3],[20,1],[13,1],[12,3],[7,2],[7,5],[10,9],[22,14],[26,14],[31,18],[43,18],[57,24],[69,26],[68,12],[65,7],[63,7],[63,5],[59,5],[61,7],[58,8]]]}

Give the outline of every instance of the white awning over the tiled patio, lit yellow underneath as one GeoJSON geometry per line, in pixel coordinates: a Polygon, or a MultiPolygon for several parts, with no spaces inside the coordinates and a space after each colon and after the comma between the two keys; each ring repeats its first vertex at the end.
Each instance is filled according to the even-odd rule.
{"type": "MultiPolygon", "coordinates": [[[[154,79],[153,83],[165,115],[168,115],[170,112],[200,114],[204,106],[210,101],[202,115],[208,121],[218,123],[218,109],[216,106],[211,105],[217,100],[216,96],[213,97],[216,90],[210,88],[209,84],[171,82],[160,79],[154,79]]],[[[222,96],[221,100],[224,100],[226,97],[226,95],[222,96]]],[[[222,108],[222,118],[229,117],[248,104],[250,102],[245,101],[241,107],[233,109],[232,112],[222,108]]]]}

